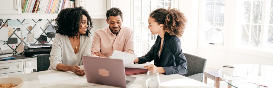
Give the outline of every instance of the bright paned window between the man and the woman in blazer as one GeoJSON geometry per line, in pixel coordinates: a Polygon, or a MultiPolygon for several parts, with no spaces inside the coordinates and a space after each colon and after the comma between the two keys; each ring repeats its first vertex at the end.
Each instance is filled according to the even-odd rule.
{"type": "Polygon", "coordinates": [[[150,13],[157,8],[168,9],[174,0],[133,0],[134,53],[146,54],[155,43],[157,35],[148,29],[150,13]]]}

